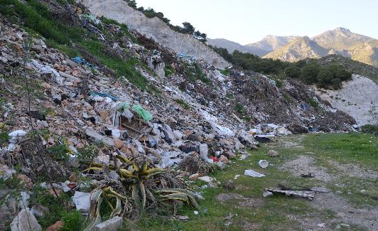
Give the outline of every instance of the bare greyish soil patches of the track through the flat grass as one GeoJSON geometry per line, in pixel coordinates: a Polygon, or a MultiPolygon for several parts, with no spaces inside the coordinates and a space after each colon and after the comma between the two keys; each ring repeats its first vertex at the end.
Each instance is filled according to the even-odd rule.
{"type": "MultiPolygon", "coordinates": [[[[298,156],[297,159],[288,161],[284,164],[283,168],[289,171],[293,176],[300,176],[302,173],[314,173],[315,179],[323,182],[330,182],[337,180],[341,176],[353,176],[359,178],[377,178],[377,173],[374,171],[366,171],[357,164],[340,164],[337,161],[329,161],[333,166],[338,168],[337,175],[330,175],[327,173],[327,168],[323,166],[315,166],[314,158],[308,155],[298,156]]],[[[312,201],[308,202],[309,205],[320,210],[332,210],[335,213],[335,218],[331,220],[319,220],[317,217],[306,220],[296,219],[303,222],[304,227],[310,230],[328,230],[330,224],[345,223],[347,225],[358,225],[365,227],[367,230],[374,230],[377,227],[377,208],[355,208],[352,204],[348,203],[345,198],[331,193],[317,193],[312,201]],[[325,227],[317,227],[318,224],[325,223],[325,227]]]]}

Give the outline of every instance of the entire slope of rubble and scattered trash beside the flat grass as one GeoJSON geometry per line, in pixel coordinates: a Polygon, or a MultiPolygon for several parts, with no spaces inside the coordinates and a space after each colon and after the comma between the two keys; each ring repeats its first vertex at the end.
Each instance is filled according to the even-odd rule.
{"type": "MultiPolygon", "coordinates": [[[[81,56],[69,58],[0,18],[0,129],[7,135],[0,178],[16,176],[27,186],[23,203],[3,205],[1,224],[36,215],[28,200],[40,178],[51,195],[73,195],[75,208],[99,229],[107,224],[98,225],[102,200],[114,203],[111,225],[121,223],[117,215],[135,218],[134,211],[158,208],[157,198],[196,206],[202,196],[188,190],[185,177],[207,181],[205,173],[226,168],[237,154],[245,159],[244,149],[257,148],[255,137],[352,129],[352,118],[296,82],[278,88],[264,75],[233,68],[223,75],[206,60],[176,54],[136,31],[130,36],[83,6],[45,4],[101,41],[102,52],[135,59],[153,87],[137,87],[80,45],[72,47],[81,56]]],[[[18,222],[13,226],[41,229],[18,222]]]]}

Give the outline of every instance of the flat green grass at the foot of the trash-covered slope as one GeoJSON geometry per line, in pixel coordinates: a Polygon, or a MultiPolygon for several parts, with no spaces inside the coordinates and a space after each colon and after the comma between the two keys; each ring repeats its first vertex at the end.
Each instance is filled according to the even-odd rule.
{"type": "MultiPolygon", "coordinates": [[[[362,161],[364,167],[375,166],[377,168],[377,138],[370,137],[371,135],[365,134],[308,134],[306,136],[286,136],[280,138],[278,142],[261,144],[261,148],[250,151],[249,158],[227,165],[225,171],[209,174],[220,181],[221,186],[227,181],[233,180],[235,175],[241,176],[237,180],[233,180],[236,187],[233,190],[221,186],[199,189],[201,195],[205,197],[205,200],[200,200],[199,215],[195,215],[189,208],[180,207],[178,215],[188,215],[187,222],[156,215],[141,217],[137,225],[141,230],[246,230],[251,227],[254,230],[301,230],[303,221],[318,222],[321,220],[327,223],[330,230],[334,230],[340,221],[332,207],[320,209],[313,206],[315,201],[308,202],[306,199],[285,195],[275,194],[270,198],[263,198],[262,193],[264,188],[276,187],[278,183],[288,187],[304,186],[308,188],[323,185],[323,181],[293,176],[288,173],[287,168],[281,168],[284,163],[297,159],[298,156],[306,155],[306,153],[315,159],[316,166],[329,167],[331,175],[340,174],[340,171],[333,171],[328,163],[330,160],[359,164],[362,161]],[[287,144],[296,144],[296,146],[286,146],[284,145],[286,142],[287,144]],[[345,144],[347,147],[344,148],[345,144]],[[269,149],[279,151],[279,156],[266,156],[269,149]],[[360,157],[356,159],[356,156],[360,157]],[[259,168],[257,162],[260,159],[266,159],[272,165],[265,169],[259,168]],[[244,170],[251,168],[266,174],[266,177],[244,176],[244,170]],[[229,200],[217,200],[221,193],[228,193],[229,200]]],[[[342,191],[340,196],[347,198],[352,205],[362,208],[377,205],[376,200],[370,196],[375,195],[376,181],[374,183],[374,180],[350,178],[342,174],[338,176],[340,178],[337,180],[326,183],[326,187],[333,192],[342,191]],[[340,184],[340,187],[341,185],[344,187],[338,188],[335,186],[337,183],[340,184]],[[360,193],[361,187],[367,190],[366,195],[360,193]],[[348,190],[352,194],[347,194],[348,190]]],[[[205,183],[195,181],[193,187],[203,185],[205,183]]],[[[315,196],[320,195],[317,193],[315,196]]],[[[353,209],[350,208],[350,210],[353,209]]],[[[354,228],[362,230],[362,227],[354,228]]]]}

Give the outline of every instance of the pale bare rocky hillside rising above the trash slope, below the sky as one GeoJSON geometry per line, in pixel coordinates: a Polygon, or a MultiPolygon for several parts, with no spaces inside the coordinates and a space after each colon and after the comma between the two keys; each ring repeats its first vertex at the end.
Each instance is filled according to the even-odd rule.
{"type": "Polygon", "coordinates": [[[147,18],[140,11],[128,6],[121,0],[80,0],[82,4],[96,16],[107,18],[126,24],[129,28],[135,29],[157,43],[175,50],[176,53],[208,60],[217,68],[229,66],[220,55],[211,50],[207,45],[201,43],[193,36],[172,31],[171,28],[160,18],[147,18]]]}

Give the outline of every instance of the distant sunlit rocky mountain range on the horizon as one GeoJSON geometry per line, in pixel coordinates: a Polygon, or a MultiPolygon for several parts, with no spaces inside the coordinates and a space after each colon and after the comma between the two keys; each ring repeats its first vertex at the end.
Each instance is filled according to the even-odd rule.
{"type": "Polygon", "coordinates": [[[342,55],[369,65],[378,66],[378,40],[353,33],[347,28],[335,28],[318,36],[265,36],[257,43],[241,45],[224,38],[208,39],[210,45],[226,48],[229,53],[239,50],[262,58],[295,62],[304,58],[342,55]]]}

